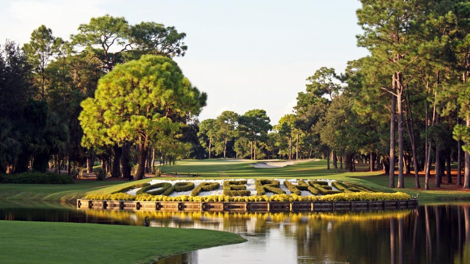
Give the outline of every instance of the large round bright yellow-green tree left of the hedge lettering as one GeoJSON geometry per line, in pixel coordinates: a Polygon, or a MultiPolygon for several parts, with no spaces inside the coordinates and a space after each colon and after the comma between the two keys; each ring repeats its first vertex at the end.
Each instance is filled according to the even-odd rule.
{"type": "Polygon", "coordinates": [[[95,97],[82,102],[83,144],[133,142],[139,150],[135,178],[142,179],[149,147],[172,138],[183,125],[179,118],[197,115],[205,101],[176,62],[144,55],[116,66],[100,79],[95,97]]]}

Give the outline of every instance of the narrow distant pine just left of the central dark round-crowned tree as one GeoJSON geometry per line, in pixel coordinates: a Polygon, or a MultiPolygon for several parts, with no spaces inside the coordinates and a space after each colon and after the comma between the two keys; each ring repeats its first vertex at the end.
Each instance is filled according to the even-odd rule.
{"type": "Polygon", "coordinates": [[[223,111],[215,120],[217,127],[216,137],[218,138],[216,146],[219,153],[224,153],[224,159],[227,158],[227,143],[236,135],[239,117],[233,111],[223,111]]]}

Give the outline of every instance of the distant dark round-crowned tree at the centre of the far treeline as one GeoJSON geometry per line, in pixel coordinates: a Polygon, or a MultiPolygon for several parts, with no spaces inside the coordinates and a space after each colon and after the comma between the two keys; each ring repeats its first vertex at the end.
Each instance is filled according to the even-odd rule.
{"type": "Polygon", "coordinates": [[[251,154],[254,150],[254,159],[256,160],[257,142],[266,138],[267,132],[273,128],[269,124],[271,120],[266,115],[266,110],[253,109],[249,110],[239,118],[239,131],[244,133],[251,142],[251,154]]]}

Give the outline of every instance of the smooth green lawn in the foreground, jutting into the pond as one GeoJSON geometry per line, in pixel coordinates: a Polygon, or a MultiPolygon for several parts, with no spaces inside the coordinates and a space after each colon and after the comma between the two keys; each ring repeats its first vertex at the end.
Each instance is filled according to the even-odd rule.
{"type": "Polygon", "coordinates": [[[153,263],[200,248],[242,243],[238,234],[167,228],[0,221],[0,263],[153,263]]]}

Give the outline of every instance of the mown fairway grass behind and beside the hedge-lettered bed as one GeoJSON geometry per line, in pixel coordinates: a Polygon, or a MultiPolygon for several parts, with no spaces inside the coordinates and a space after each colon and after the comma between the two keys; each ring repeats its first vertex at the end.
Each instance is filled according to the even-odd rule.
{"type": "MultiPolygon", "coordinates": [[[[201,178],[178,178],[178,179],[232,179],[232,178],[281,178],[281,179],[337,179],[350,182],[361,183],[366,186],[374,187],[384,192],[395,192],[399,189],[389,189],[388,176],[380,175],[382,172],[348,172],[339,169],[326,169],[326,161],[313,161],[288,165],[282,168],[254,168],[248,162],[231,162],[220,159],[212,160],[184,160],[179,161],[174,166],[163,166],[164,172],[184,173],[200,173],[201,178]]],[[[359,168],[359,165],[357,166],[359,168]]],[[[398,177],[395,177],[398,178],[398,177]]],[[[171,179],[171,178],[167,178],[171,179]]],[[[49,201],[64,201],[81,198],[85,194],[110,194],[138,182],[149,181],[143,179],[134,182],[79,182],[69,186],[54,185],[0,185],[0,199],[41,199],[49,201]],[[101,187],[100,187],[101,185],[101,187]]],[[[422,186],[424,179],[422,178],[422,186]]],[[[405,186],[414,186],[414,178],[406,177],[405,186]]],[[[433,187],[433,184],[430,184],[433,187]]],[[[401,189],[400,191],[408,194],[416,195],[419,193],[419,201],[423,202],[439,202],[453,200],[470,200],[470,192],[462,191],[446,191],[446,190],[430,190],[423,189],[401,189]]]]}

